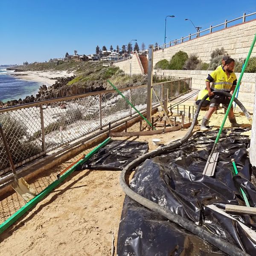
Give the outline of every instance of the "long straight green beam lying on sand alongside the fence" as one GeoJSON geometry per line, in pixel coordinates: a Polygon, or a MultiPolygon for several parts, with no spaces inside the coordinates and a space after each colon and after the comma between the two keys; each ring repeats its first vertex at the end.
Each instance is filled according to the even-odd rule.
{"type": "Polygon", "coordinates": [[[76,170],[76,166],[79,166],[79,165],[83,164],[85,161],[87,161],[88,159],[90,159],[90,157],[92,157],[96,152],[98,152],[99,149],[102,148],[104,145],[106,145],[110,140],[111,140],[111,137],[104,140],[96,148],[94,148],[92,151],[90,151],[90,153],[87,154],[84,157],[84,159],[81,159],[74,166],[72,166],[70,169],[68,169],[67,172],[64,172],[64,174],[61,175],[58,180],[53,181],[41,193],[39,193],[37,196],[35,196],[32,200],[30,200],[23,207],[21,207],[19,210],[17,210],[17,212],[15,212],[11,217],[9,217],[6,221],[4,221],[2,224],[0,224],[0,234],[3,233],[8,227],[10,227],[15,221],[17,221],[25,212],[27,212],[35,204],[37,204],[39,201],[41,201],[47,194],[49,194],[49,192],[52,191],[52,189],[54,189],[63,180],[65,180],[70,174],[72,174],[76,170]]]}

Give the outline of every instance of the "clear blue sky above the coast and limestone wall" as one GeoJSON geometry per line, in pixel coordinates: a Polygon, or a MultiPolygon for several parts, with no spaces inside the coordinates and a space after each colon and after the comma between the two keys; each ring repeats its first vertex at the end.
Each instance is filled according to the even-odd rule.
{"type": "Polygon", "coordinates": [[[131,39],[139,46],[163,44],[166,15],[175,15],[167,18],[169,41],[195,32],[185,18],[206,29],[244,11],[256,12],[255,0],[1,0],[0,64],[61,58],[74,49],[90,54],[97,45],[121,48],[131,39]]]}

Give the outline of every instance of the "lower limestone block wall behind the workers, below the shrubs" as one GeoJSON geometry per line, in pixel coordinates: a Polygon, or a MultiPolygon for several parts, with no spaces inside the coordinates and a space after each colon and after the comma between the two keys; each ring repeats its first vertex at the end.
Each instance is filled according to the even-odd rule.
{"type": "MultiPolygon", "coordinates": [[[[210,70],[153,70],[153,74],[158,76],[172,76],[180,78],[192,77],[192,89],[201,90],[205,88],[205,79],[210,70]]],[[[239,78],[240,73],[236,73],[239,78]]],[[[256,73],[244,73],[239,89],[238,99],[245,105],[253,107],[255,97],[256,73]]]]}

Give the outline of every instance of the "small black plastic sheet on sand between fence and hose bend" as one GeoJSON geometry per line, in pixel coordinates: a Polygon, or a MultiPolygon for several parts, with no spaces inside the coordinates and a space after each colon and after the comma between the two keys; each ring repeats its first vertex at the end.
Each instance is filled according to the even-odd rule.
{"type": "Polygon", "coordinates": [[[148,152],[148,142],[112,140],[90,158],[81,169],[122,170],[148,152]]]}

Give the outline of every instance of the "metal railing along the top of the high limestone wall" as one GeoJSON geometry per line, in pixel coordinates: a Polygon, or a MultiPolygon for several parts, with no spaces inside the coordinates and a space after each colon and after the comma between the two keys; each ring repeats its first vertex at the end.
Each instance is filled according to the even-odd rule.
{"type": "MultiPolygon", "coordinates": [[[[198,30],[198,32],[194,33],[194,34],[189,34],[188,36],[186,37],[182,37],[180,39],[175,39],[174,41],[170,41],[169,43],[166,43],[166,44],[163,44],[161,46],[158,46],[158,47],[155,47],[154,48],[154,51],[157,51],[157,50],[160,50],[160,49],[165,49],[165,48],[168,48],[168,47],[171,47],[173,45],[176,45],[176,44],[180,44],[180,43],[183,43],[184,41],[189,41],[191,39],[194,39],[194,38],[199,38],[200,37],[200,34],[204,33],[204,32],[208,32],[209,31],[209,34],[212,33],[212,29],[215,29],[219,26],[224,26],[224,29],[227,28],[227,24],[231,23],[231,22],[234,22],[236,20],[242,20],[241,23],[244,23],[245,22],[245,18],[246,17],[249,17],[249,16],[252,16],[252,15],[256,15],[256,12],[253,12],[253,13],[250,13],[250,14],[246,14],[244,13],[243,16],[241,17],[238,17],[236,19],[233,19],[233,20],[225,20],[223,23],[221,24],[218,24],[216,26],[210,26],[208,29],[204,29],[202,31],[198,30]],[[193,38],[194,37],[194,38],[193,38]],[[186,40],[187,39],[187,40],[186,40]]],[[[239,24],[241,24],[239,23],[239,24]]],[[[221,29],[219,29],[221,30],[221,29]]],[[[217,30],[217,31],[219,31],[217,30]]],[[[205,34],[204,34],[205,35],[205,34]]]]}

